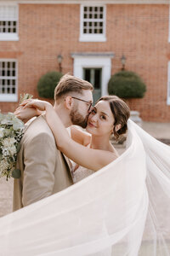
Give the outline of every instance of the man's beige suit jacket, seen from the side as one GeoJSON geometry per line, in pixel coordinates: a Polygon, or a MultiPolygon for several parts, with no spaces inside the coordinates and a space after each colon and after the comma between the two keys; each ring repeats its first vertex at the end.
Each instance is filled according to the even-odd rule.
{"type": "Polygon", "coordinates": [[[34,119],[21,140],[17,159],[21,177],[14,179],[13,210],[69,187],[73,182],[68,161],[56,148],[44,116],[34,119]]]}

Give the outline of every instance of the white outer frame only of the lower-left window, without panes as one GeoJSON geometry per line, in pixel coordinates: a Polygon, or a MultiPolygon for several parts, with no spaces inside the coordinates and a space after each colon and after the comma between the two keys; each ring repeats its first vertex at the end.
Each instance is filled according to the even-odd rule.
{"type": "MultiPolygon", "coordinates": [[[[16,77],[16,88],[14,94],[0,93],[0,102],[18,102],[18,61],[16,59],[0,59],[0,61],[14,61],[15,66],[15,77],[16,77]]],[[[1,79],[2,77],[0,77],[1,79]]]]}

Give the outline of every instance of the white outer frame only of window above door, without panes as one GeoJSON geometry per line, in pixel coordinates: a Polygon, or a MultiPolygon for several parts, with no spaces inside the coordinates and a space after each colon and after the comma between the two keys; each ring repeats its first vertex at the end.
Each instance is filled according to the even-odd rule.
{"type": "Polygon", "coordinates": [[[105,27],[106,27],[106,5],[104,4],[81,4],[80,6],[80,42],[105,42],[106,37],[105,37],[105,27]],[[104,18],[103,18],[103,34],[84,34],[83,33],[83,9],[85,6],[101,6],[104,8],[104,18]]]}

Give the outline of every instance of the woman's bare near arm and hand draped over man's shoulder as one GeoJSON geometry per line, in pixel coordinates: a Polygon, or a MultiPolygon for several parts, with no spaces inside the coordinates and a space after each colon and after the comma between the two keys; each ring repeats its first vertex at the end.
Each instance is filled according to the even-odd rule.
{"type": "Polygon", "coordinates": [[[59,150],[78,165],[97,171],[116,159],[116,154],[109,151],[87,148],[73,141],[50,103],[37,100],[27,102],[24,108],[34,107],[46,111],[46,119],[59,150]]]}

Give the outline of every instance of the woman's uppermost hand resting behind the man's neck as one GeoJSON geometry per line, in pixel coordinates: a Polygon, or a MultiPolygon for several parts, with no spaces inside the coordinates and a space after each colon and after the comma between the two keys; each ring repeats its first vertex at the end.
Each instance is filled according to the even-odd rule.
{"type": "Polygon", "coordinates": [[[20,106],[25,108],[37,108],[41,111],[45,111],[47,108],[53,108],[53,106],[49,102],[44,102],[40,100],[26,100],[20,104],[20,106]]]}

